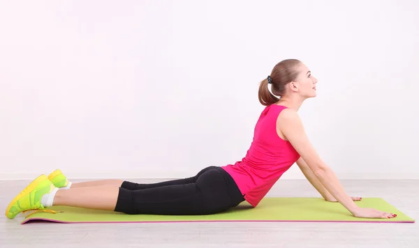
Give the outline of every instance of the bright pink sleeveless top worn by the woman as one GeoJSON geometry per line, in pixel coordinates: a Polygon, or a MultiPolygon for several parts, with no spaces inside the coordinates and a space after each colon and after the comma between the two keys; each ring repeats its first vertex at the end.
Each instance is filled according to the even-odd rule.
{"type": "Polygon", "coordinates": [[[300,155],[289,141],[277,134],[277,118],[284,106],[271,104],[260,114],[246,157],[221,166],[235,180],[244,199],[256,207],[274,183],[300,155]]]}

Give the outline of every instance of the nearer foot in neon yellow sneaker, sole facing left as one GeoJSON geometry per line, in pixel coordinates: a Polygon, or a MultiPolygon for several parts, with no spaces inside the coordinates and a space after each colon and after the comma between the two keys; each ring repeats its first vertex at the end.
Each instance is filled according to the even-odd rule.
{"type": "Polygon", "coordinates": [[[44,209],[41,204],[42,196],[49,194],[54,188],[55,186],[48,180],[47,176],[38,176],[10,202],[6,209],[6,217],[13,219],[20,212],[44,209]]]}

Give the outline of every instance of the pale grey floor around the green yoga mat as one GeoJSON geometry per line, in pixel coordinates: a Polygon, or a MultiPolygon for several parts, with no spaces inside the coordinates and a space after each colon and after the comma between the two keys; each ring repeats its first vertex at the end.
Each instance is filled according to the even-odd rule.
{"type": "MultiPolygon", "coordinates": [[[[159,180],[133,180],[154,183],[159,180]]],[[[0,181],[0,210],[29,181],[0,181]]],[[[351,196],[382,197],[419,218],[419,180],[342,181],[351,196]]],[[[279,180],[268,196],[318,196],[306,180],[279,180]]],[[[414,224],[189,223],[20,225],[0,217],[0,247],[419,247],[414,224]]]]}

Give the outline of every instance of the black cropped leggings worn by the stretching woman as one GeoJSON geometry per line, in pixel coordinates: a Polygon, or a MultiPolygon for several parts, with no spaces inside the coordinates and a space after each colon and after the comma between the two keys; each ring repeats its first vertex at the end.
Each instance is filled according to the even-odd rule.
{"type": "Polygon", "coordinates": [[[191,178],[152,184],[124,181],[115,211],[130,215],[210,215],[242,201],[230,174],[219,166],[209,166],[191,178]]]}

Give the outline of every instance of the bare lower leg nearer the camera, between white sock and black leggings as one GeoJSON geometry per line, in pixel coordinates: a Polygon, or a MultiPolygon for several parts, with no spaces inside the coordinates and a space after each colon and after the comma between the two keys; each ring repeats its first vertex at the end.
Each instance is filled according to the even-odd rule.
{"type": "Polygon", "coordinates": [[[58,190],[52,205],[113,211],[117,204],[118,194],[117,185],[58,190]]]}

